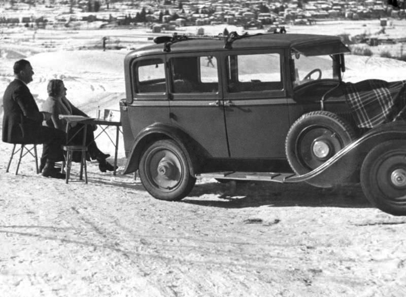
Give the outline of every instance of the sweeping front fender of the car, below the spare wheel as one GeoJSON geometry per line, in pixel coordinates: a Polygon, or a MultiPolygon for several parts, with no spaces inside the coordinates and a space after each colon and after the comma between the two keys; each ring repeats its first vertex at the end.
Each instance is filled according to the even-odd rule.
{"type": "MultiPolygon", "coordinates": [[[[286,178],[285,182],[306,181],[316,187],[328,188],[349,181],[357,173],[367,153],[390,139],[406,140],[406,122],[391,122],[373,128],[352,141],[314,170],[286,178]]],[[[356,176],[357,181],[359,176],[356,176]]]]}

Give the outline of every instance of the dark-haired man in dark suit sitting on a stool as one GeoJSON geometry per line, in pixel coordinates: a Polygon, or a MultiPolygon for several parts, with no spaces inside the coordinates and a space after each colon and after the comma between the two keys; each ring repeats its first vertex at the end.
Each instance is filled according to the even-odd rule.
{"type": "Polygon", "coordinates": [[[66,135],[58,129],[45,127],[43,121],[49,113],[40,112],[27,84],[32,82],[34,71],[27,60],[14,64],[15,80],[10,83],[3,96],[3,141],[9,143],[44,143],[40,167],[46,177],[65,178],[55,169],[55,162],[63,160],[62,144],[66,135]]]}

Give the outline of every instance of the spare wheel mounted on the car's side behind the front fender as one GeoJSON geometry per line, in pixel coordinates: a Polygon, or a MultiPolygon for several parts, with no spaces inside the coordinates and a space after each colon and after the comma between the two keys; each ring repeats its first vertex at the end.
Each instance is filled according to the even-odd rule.
{"type": "Polygon", "coordinates": [[[355,138],[354,128],[340,116],[322,110],[311,112],[290,127],[285,142],[286,157],[296,174],[305,174],[355,138]]]}

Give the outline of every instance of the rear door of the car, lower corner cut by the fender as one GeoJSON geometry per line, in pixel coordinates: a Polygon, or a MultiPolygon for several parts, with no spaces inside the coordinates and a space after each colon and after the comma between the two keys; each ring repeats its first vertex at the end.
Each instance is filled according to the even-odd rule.
{"type": "Polygon", "coordinates": [[[168,54],[170,117],[213,158],[228,158],[218,58],[168,54]]]}

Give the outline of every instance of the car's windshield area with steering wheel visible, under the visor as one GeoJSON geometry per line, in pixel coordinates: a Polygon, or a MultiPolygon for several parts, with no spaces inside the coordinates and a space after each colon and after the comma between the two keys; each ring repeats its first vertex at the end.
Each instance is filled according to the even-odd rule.
{"type": "Polygon", "coordinates": [[[293,82],[295,87],[314,80],[340,79],[340,71],[338,69],[334,71],[334,68],[337,67],[334,66],[334,59],[330,55],[307,57],[293,54],[292,59],[295,69],[295,81],[293,82]]]}

